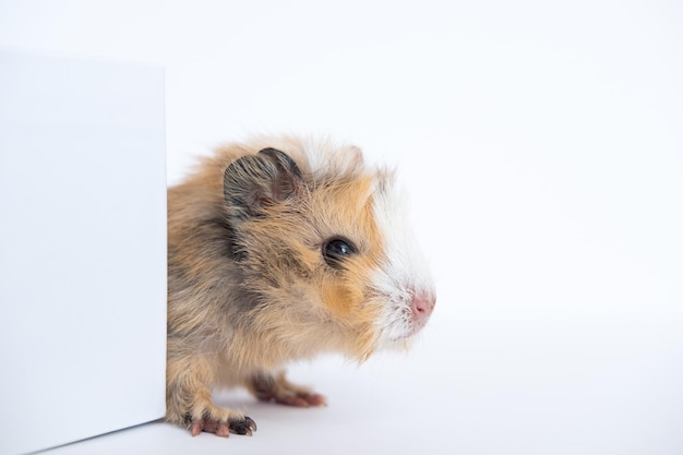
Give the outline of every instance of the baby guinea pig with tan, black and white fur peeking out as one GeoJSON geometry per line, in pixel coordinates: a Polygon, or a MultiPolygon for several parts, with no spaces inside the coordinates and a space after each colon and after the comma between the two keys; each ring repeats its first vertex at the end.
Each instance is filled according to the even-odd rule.
{"type": "Polygon", "coordinates": [[[251,434],[213,388],[319,406],[288,361],[408,345],[435,294],[394,180],[357,147],[277,137],[227,145],[168,190],[168,421],[251,434]]]}

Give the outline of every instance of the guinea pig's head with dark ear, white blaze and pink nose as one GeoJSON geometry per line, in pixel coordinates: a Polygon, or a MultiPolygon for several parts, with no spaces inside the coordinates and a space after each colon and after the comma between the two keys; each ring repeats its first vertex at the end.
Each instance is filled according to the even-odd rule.
{"type": "Polygon", "coordinates": [[[263,330],[362,360],[427,323],[435,292],[404,199],[358,148],[264,148],[226,169],[224,195],[263,330]]]}

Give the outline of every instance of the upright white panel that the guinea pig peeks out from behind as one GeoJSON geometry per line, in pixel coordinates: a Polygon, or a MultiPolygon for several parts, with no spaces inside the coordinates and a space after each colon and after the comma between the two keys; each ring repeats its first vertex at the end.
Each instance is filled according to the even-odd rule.
{"type": "Polygon", "coordinates": [[[0,52],[0,453],[164,415],[164,71],[0,52]]]}

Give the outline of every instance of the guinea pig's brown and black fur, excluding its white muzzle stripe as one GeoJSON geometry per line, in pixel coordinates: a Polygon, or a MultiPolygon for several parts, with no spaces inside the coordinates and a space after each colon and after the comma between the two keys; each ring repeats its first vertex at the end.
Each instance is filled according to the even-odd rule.
{"type": "MultiPolygon", "coordinates": [[[[193,434],[255,429],[242,414],[213,405],[216,385],[319,405],[320,395],[277,373],[283,366],[324,351],[363,360],[375,347],[380,307],[367,289],[382,258],[371,208],[375,177],[363,171],[356,149],[314,169],[303,146],[291,137],[232,144],[168,191],[167,419],[193,434]],[[266,147],[286,152],[300,178],[280,172],[251,192],[236,184],[229,191],[238,202],[230,205],[226,169],[266,147]],[[241,214],[241,201],[257,213],[241,214]],[[359,249],[343,271],[321,254],[334,236],[359,249]]],[[[250,169],[235,171],[236,181],[252,179],[250,169]]]]}

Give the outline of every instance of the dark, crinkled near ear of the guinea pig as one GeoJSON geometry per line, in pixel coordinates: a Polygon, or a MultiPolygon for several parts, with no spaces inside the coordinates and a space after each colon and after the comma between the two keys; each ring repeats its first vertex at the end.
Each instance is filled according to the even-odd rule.
{"type": "Polygon", "coordinates": [[[302,184],[301,171],[289,155],[264,148],[228,166],[223,192],[230,215],[247,219],[257,216],[264,207],[295,196],[302,184]]]}

